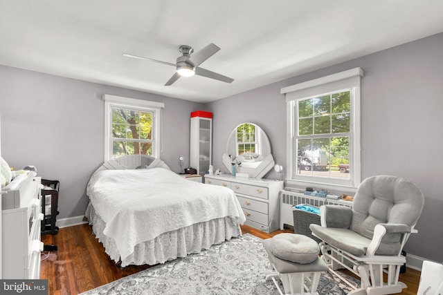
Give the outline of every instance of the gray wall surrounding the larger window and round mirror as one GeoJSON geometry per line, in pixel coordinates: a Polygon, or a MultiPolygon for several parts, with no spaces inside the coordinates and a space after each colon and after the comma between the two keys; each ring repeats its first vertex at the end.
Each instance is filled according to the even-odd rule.
{"type": "Polygon", "coordinates": [[[361,67],[362,178],[398,175],[422,189],[419,233],[408,240],[406,251],[442,261],[442,48],[443,33],[206,104],[214,113],[215,168],[223,168],[228,135],[242,122],[260,125],[271,140],[275,162],[286,166],[286,103],[280,88],[361,67]]]}

